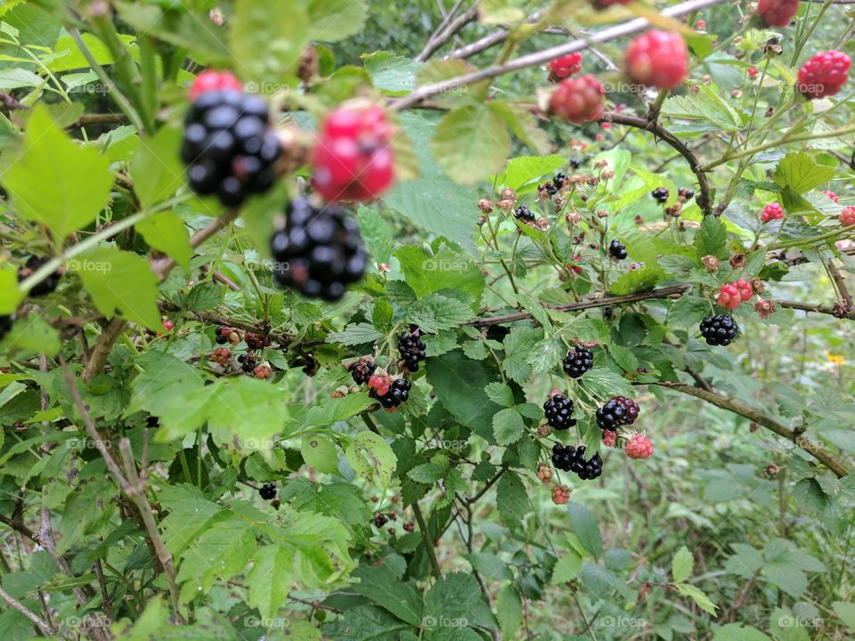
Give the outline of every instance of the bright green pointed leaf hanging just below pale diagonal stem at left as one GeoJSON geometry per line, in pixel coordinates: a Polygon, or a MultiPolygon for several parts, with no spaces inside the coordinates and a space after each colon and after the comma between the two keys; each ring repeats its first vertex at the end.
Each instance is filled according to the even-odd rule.
{"type": "Polygon", "coordinates": [[[160,329],[158,277],[142,256],[102,246],[67,263],[83,280],[104,316],[117,313],[149,329],[160,329]]]}

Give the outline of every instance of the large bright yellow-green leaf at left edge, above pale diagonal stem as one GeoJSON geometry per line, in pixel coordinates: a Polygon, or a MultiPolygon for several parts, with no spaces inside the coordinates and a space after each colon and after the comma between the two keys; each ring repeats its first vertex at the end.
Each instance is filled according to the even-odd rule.
{"type": "Polygon", "coordinates": [[[57,241],[92,223],[110,199],[110,161],[72,142],[44,105],[33,111],[20,148],[9,155],[0,182],[17,215],[47,225],[57,241]]]}

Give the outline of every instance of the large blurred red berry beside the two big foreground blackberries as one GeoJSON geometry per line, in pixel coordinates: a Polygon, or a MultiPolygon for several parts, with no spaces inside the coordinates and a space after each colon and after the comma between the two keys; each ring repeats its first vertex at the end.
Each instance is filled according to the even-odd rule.
{"type": "Polygon", "coordinates": [[[324,120],[312,154],[314,188],[327,200],[373,200],[395,179],[393,128],[376,105],[349,104],[324,120]]]}

